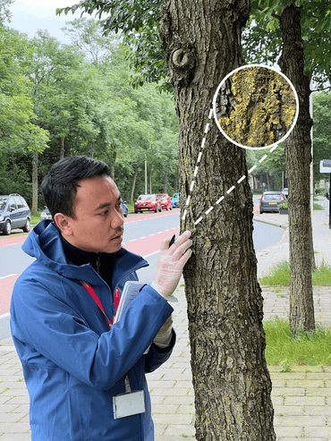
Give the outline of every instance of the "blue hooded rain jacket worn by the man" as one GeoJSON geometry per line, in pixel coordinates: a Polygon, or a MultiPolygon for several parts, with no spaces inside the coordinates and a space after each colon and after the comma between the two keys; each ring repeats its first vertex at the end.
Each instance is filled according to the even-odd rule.
{"type": "Polygon", "coordinates": [[[115,314],[113,294],[147,262],[131,252],[114,255],[112,286],[91,264],[67,261],[60,233],[40,222],[23,244],[36,260],[18,278],[11,303],[13,342],[30,394],[32,441],[154,440],[146,372],[157,369],[174,347],[151,344],[173,308],[149,285],[109,330],[98,305],[81,285],[88,282],[106,316],[115,314]],[[145,391],[145,413],[114,420],[113,396],[145,391]]]}

